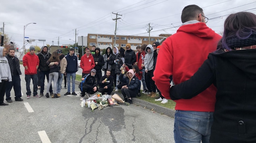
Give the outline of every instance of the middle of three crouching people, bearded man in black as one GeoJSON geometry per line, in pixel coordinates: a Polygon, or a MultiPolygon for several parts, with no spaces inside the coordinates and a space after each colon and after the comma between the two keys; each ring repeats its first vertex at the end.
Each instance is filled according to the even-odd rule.
{"type": "Polygon", "coordinates": [[[100,78],[100,89],[99,92],[104,95],[107,93],[108,95],[111,95],[114,87],[113,87],[113,82],[114,78],[110,75],[110,70],[106,71],[106,75],[100,78]]]}

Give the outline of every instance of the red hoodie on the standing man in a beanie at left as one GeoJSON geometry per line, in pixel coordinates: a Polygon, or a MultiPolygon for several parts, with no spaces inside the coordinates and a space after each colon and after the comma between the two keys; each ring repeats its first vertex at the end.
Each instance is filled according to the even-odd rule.
{"type": "Polygon", "coordinates": [[[27,54],[23,56],[23,66],[27,66],[27,70],[25,69],[25,75],[37,74],[36,66],[39,66],[38,56],[27,52],[27,54]]]}

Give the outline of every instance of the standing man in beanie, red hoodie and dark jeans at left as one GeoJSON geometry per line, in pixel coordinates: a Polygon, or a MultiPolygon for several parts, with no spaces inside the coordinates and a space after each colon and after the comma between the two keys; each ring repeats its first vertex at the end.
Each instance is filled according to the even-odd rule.
{"type": "Polygon", "coordinates": [[[25,67],[25,81],[27,89],[27,99],[30,99],[30,79],[33,81],[33,97],[40,97],[37,95],[37,68],[39,67],[39,58],[35,54],[35,47],[30,46],[29,52],[23,56],[23,66],[25,67]]]}

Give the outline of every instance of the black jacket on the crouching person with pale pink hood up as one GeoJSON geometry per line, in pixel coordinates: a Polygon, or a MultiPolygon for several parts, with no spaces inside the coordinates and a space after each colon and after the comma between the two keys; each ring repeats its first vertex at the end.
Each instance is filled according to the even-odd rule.
{"type": "Polygon", "coordinates": [[[129,78],[125,77],[123,74],[120,74],[119,79],[122,83],[127,85],[129,90],[135,92],[136,94],[138,93],[139,79],[135,75],[131,79],[131,82],[129,81],[129,78]]]}

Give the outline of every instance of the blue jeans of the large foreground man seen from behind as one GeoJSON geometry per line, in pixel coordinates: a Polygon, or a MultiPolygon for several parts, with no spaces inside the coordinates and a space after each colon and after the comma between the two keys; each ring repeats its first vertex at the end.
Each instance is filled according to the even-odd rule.
{"type": "Polygon", "coordinates": [[[175,143],[209,143],[213,112],[175,111],[175,143]]]}

